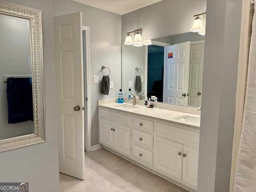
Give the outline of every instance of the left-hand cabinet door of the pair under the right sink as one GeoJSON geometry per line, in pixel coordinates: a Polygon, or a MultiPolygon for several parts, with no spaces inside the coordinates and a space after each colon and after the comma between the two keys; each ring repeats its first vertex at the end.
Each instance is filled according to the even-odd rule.
{"type": "Polygon", "coordinates": [[[181,179],[182,173],[182,144],[160,137],[154,141],[154,166],[166,176],[181,179]]]}

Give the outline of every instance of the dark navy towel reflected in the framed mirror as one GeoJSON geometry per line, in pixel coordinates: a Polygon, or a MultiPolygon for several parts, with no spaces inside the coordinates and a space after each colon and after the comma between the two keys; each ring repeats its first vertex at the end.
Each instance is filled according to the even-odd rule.
{"type": "Polygon", "coordinates": [[[30,78],[7,79],[8,123],[33,121],[32,84],[30,78]]]}

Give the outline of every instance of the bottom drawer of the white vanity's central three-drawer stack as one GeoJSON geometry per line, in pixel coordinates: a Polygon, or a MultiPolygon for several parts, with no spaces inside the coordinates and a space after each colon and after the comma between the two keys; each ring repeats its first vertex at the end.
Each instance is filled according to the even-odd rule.
{"type": "Polygon", "coordinates": [[[132,156],[143,164],[153,166],[153,152],[142,147],[132,145],[132,156]]]}

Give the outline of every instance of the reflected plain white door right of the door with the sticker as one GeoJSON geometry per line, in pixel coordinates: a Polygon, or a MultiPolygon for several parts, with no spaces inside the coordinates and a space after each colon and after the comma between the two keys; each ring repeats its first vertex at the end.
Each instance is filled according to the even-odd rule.
{"type": "Polygon", "coordinates": [[[204,43],[190,45],[190,67],[188,105],[201,106],[202,80],[204,64],[204,43]]]}

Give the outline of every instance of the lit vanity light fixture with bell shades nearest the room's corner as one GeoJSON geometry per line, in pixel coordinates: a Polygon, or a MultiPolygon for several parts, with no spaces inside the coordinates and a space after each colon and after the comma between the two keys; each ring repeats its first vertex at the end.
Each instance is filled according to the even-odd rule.
{"type": "Polygon", "coordinates": [[[145,40],[145,41],[142,40],[141,32],[142,32],[142,29],[126,33],[127,35],[126,35],[124,45],[133,45],[136,47],[140,47],[143,45],[152,45],[151,40],[145,40]],[[131,33],[134,34],[134,40],[132,40],[132,36],[130,35],[131,33]]]}

